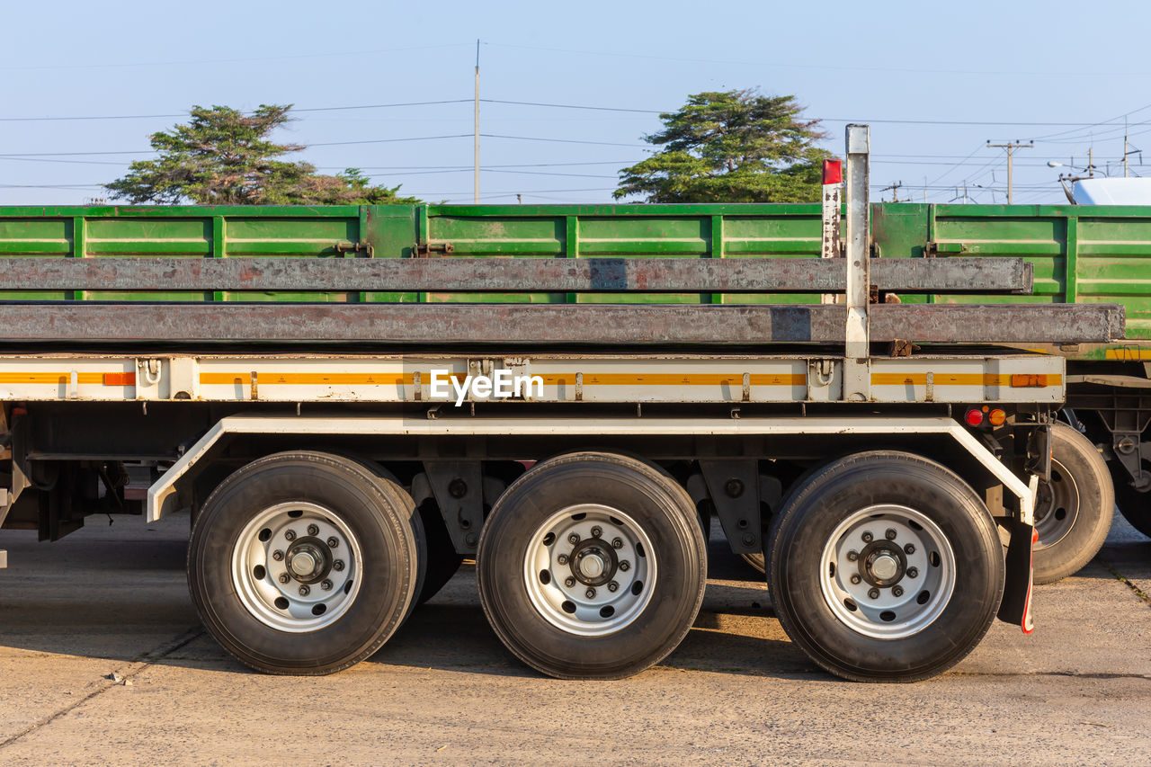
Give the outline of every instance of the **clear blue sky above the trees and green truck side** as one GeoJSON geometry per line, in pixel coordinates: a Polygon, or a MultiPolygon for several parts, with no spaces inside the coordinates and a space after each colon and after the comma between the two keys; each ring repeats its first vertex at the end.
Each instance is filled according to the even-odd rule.
{"type": "Polygon", "coordinates": [[[294,104],[298,120],[277,138],[310,145],[300,159],[470,203],[477,39],[481,98],[641,111],[483,102],[482,202],[609,202],[619,168],[645,157],[657,112],[689,93],[759,88],[795,94],[825,120],[837,153],[845,121],[870,121],[876,198],[902,181],[905,197],[922,200],[925,185],[928,200],[947,202],[966,180],[974,200],[1004,202],[1004,152],[984,143],[1034,138],[1016,154],[1015,202],[1058,203],[1061,169],[1046,161],[1085,164],[1093,145],[1096,165],[1114,164],[1125,114],[1133,144],[1149,150],[1149,165],[1133,170],[1151,175],[1145,9],[1112,0],[6,3],[0,204],[98,197],[101,182],[147,157],[148,134],[181,121],[13,119],[178,115],[193,104],[294,104]],[[992,124],[1012,122],[1075,124],[992,124]],[[428,138],[437,136],[449,138],[428,138]]]}

